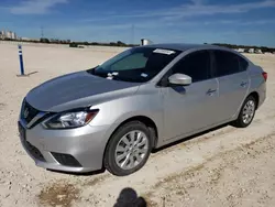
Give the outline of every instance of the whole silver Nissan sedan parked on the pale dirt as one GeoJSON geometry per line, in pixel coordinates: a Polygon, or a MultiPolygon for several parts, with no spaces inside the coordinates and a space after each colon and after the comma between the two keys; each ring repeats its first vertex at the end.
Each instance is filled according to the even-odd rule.
{"type": "Polygon", "coordinates": [[[266,79],[229,48],[133,47],[32,89],[22,103],[20,138],[38,166],[129,175],[152,149],[223,123],[248,127],[265,100],[266,79]]]}

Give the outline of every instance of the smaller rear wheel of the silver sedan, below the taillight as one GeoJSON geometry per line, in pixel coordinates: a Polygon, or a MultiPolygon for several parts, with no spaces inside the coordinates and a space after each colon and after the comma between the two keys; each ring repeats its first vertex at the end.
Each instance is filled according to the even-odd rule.
{"type": "Polygon", "coordinates": [[[240,110],[240,113],[238,116],[238,119],[233,122],[233,126],[237,128],[246,128],[251,124],[251,122],[253,121],[253,118],[255,116],[255,111],[256,111],[256,100],[253,96],[249,96],[244,102],[243,106],[240,110]],[[248,108],[251,107],[251,108],[248,108]],[[245,119],[245,111],[251,110],[252,113],[246,117],[245,119]]]}

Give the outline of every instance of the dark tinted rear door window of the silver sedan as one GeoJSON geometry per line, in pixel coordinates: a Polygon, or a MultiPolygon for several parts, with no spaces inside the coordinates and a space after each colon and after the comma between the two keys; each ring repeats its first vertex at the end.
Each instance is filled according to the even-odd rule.
{"type": "Polygon", "coordinates": [[[241,72],[240,56],[226,51],[213,51],[216,76],[226,76],[241,72]]]}

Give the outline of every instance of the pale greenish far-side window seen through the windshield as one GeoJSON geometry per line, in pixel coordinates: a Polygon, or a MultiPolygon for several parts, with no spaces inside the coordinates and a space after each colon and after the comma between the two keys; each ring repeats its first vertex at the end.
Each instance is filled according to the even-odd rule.
{"type": "Polygon", "coordinates": [[[147,62],[147,57],[144,57],[142,53],[135,53],[128,57],[114,63],[111,66],[112,70],[127,70],[144,68],[147,62]]]}

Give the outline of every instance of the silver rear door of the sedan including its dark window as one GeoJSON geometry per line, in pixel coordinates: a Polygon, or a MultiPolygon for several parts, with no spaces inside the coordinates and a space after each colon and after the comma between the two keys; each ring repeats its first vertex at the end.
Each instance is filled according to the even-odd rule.
{"type": "Polygon", "coordinates": [[[212,51],[215,57],[215,76],[219,83],[219,98],[216,112],[220,122],[232,119],[241,107],[248,89],[248,62],[241,56],[227,51],[212,51]]]}

